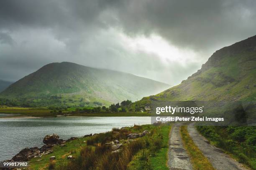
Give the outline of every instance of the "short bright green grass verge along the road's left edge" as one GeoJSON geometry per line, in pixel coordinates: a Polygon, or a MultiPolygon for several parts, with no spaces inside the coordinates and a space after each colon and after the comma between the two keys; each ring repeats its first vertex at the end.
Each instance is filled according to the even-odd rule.
{"type": "Polygon", "coordinates": [[[134,155],[133,160],[128,165],[128,170],[169,170],[167,167],[167,154],[171,127],[168,124],[161,124],[157,127],[159,130],[158,133],[162,137],[161,147],[158,150],[154,150],[153,148],[154,151],[152,152],[152,146],[149,143],[148,147],[141,149],[134,155]]]}

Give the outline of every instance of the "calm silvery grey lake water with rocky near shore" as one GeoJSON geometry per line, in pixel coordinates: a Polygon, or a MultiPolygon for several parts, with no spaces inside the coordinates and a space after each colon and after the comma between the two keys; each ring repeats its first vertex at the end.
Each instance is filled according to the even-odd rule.
{"type": "MultiPolygon", "coordinates": [[[[0,114],[1,115],[1,114],[0,114]]],[[[25,147],[41,147],[45,135],[60,139],[101,133],[113,127],[150,124],[150,117],[0,118],[0,161],[11,159],[25,147]]]]}

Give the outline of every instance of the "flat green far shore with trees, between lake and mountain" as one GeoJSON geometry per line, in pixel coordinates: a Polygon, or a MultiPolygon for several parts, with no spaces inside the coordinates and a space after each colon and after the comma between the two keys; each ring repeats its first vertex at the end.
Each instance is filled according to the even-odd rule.
{"type": "Polygon", "coordinates": [[[8,107],[0,105],[0,113],[12,113],[16,116],[35,116],[35,117],[56,117],[63,116],[150,116],[150,113],[131,109],[131,100],[124,100],[120,104],[112,104],[109,107],[8,107]]]}

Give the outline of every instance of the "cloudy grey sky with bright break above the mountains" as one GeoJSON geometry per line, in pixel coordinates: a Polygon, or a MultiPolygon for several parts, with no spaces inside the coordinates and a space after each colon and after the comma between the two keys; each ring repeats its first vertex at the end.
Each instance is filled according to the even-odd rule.
{"type": "Polygon", "coordinates": [[[255,9],[255,0],[2,0],[0,80],[68,61],[177,85],[256,35],[255,9]]]}

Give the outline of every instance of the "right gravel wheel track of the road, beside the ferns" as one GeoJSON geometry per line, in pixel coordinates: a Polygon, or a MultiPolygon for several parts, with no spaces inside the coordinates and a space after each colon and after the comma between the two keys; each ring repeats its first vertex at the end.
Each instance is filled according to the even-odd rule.
{"type": "Polygon", "coordinates": [[[209,141],[200,135],[192,124],[188,125],[187,130],[195,145],[197,145],[205,157],[210,160],[216,170],[248,170],[240,163],[230,158],[229,155],[223,153],[222,150],[210,145],[209,141]]]}

